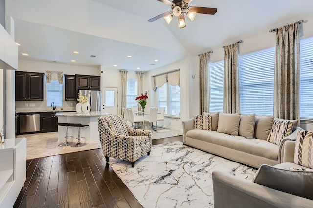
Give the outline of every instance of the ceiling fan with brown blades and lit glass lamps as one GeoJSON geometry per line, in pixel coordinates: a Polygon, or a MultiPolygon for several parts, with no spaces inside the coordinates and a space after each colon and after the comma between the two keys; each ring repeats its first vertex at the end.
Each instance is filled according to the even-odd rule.
{"type": "Polygon", "coordinates": [[[178,26],[180,29],[186,26],[184,13],[187,13],[187,17],[191,21],[193,21],[197,13],[214,15],[217,12],[217,8],[199,7],[199,6],[188,7],[188,3],[190,3],[192,0],[173,0],[173,1],[158,0],[158,1],[170,5],[172,7],[172,11],[164,12],[163,14],[151,18],[148,21],[153,22],[157,19],[164,17],[165,21],[169,24],[172,21],[174,15],[178,17],[178,26]]]}

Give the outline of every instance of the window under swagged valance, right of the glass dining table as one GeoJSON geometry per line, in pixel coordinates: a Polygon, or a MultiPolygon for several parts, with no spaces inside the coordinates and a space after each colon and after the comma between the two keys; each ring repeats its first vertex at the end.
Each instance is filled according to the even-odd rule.
{"type": "Polygon", "coordinates": [[[164,114],[180,116],[180,87],[165,83],[157,88],[157,106],[165,107],[164,114]]]}

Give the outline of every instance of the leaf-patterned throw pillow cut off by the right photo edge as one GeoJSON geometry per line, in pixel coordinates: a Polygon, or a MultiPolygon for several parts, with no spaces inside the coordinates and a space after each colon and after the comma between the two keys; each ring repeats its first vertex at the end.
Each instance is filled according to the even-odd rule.
{"type": "Polygon", "coordinates": [[[294,163],[313,168],[313,132],[301,129],[297,131],[294,163]]]}

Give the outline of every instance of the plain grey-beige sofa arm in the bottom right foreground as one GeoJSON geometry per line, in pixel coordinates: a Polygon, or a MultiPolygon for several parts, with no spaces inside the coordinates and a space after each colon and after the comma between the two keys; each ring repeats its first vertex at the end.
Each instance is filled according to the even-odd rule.
{"type": "Polygon", "coordinates": [[[214,208],[312,208],[313,200],[213,171],[214,208]]]}

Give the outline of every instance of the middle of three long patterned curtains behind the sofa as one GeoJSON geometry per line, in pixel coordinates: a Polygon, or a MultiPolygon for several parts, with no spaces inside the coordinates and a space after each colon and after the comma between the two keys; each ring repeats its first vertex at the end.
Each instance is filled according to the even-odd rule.
{"type": "Polygon", "coordinates": [[[224,46],[224,113],[239,113],[238,43],[224,46]]]}

